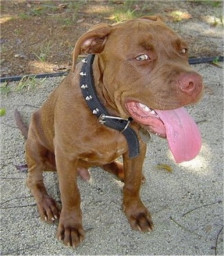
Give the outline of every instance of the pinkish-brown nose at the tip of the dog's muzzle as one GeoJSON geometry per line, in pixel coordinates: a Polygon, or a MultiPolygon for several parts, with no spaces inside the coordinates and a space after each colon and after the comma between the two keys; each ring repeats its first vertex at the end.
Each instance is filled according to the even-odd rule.
{"type": "Polygon", "coordinates": [[[203,79],[195,72],[184,73],[179,76],[177,86],[187,95],[196,96],[203,88],[203,79]]]}

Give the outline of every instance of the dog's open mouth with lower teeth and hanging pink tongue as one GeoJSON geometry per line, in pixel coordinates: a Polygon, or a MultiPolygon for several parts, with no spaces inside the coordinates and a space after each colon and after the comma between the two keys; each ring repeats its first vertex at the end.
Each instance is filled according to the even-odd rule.
{"type": "Polygon", "coordinates": [[[190,161],[198,155],[201,134],[185,108],[154,110],[136,101],[128,101],[126,108],[145,129],[167,139],[176,163],[190,161]]]}

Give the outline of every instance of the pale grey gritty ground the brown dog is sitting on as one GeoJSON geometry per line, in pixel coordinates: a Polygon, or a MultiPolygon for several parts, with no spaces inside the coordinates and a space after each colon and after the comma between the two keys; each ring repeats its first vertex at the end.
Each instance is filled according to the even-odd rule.
{"type": "MultiPolygon", "coordinates": [[[[155,229],[130,228],[121,210],[122,186],[109,173],[92,168],[92,183],[79,179],[85,241],[76,249],[56,237],[57,224],[39,219],[24,163],[24,142],[15,127],[18,108],[28,123],[62,77],[45,79],[32,88],[1,96],[6,116],[1,121],[1,255],[223,255],[223,69],[210,63],[194,65],[204,77],[205,96],[188,108],[201,130],[203,146],[194,160],[175,164],[164,139],[153,136],[147,148],[141,195],[155,229]],[[172,172],[156,168],[167,164],[172,172]]],[[[69,113],[68,113],[69,114],[69,113]]],[[[49,193],[59,201],[57,173],[45,173],[49,193]]]]}

